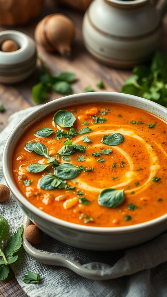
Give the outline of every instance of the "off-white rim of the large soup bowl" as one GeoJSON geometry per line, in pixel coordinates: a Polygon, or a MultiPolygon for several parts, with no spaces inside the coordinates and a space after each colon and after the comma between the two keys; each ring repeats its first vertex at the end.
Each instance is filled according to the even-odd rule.
{"type": "MultiPolygon", "coordinates": [[[[64,228],[74,229],[74,230],[78,230],[78,231],[85,232],[85,233],[97,233],[97,234],[98,233],[104,233],[104,234],[114,233],[114,234],[116,234],[116,233],[136,232],[136,231],[143,230],[143,229],[146,229],[146,228],[151,228],[151,227],[153,227],[155,225],[159,225],[162,222],[167,220],[167,214],[164,214],[163,216],[157,217],[155,219],[152,219],[152,220],[149,220],[149,221],[146,221],[146,222],[143,222],[143,223],[139,223],[139,224],[135,224],[135,225],[128,225],[128,226],[120,226],[120,227],[119,226],[117,226],[117,227],[94,227],[94,226],[79,225],[79,224],[71,223],[71,222],[68,222],[68,221],[64,221],[62,219],[58,219],[56,217],[51,216],[50,214],[45,213],[44,211],[40,210],[39,208],[37,208],[36,206],[31,204],[21,194],[21,192],[18,190],[18,188],[16,187],[16,185],[15,185],[15,183],[13,181],[12,174],[11,174],[9,168],[8,168],[8,165],[7,165],[8,164],[8,153],[9,153],[8,152],[8,147],[9,147],[9,144],[10,144],[12,138],[13,138],[13,135],[15,135],[15,133],[17,133],[18,129],[20,129],[23,125],[25,125],[25,121],[28,122],[29,118],[31,116],[37,115],[40,111],[44,110],[46,107],[54,105],[55,102],[57,103],[57,105],[58,104],[63,105],[62,103],[65,102],[66,100],[72,100],[72,99],[78,99],[78,98],[81,99],[82,97],[89,97],[89,98],[94,97],[94,98],[96,98],[96,97],[98,97],[98,95],[100,95],[102,97],[108,97],[108,96],[119,97],[119,96],[122,96],[122,97],[128,97],[128,99],[137,99],[137,100],[140,100],[140,102],[143,103],[144,105],[149,105],[149,106],[152,106],[153,108],[156,108],[156,109],[158,108],[158,110],[167,113],[167,109],[165,107],[163,107],[162,105],[157,104],[156,102],[152,102],[152,101],[149,101],[147,99],[144,99],[144,98],[141,98],[141,97],[138,97],[138,96],[134,96],[134,95],[124,94],[124,93],[119,93],[119,92],[110,92],[110,91],[92,92],[91,95],[90,95],[90,93],[73,94],[73,95],[60,97],[59,99],[55,99],[55,100],[53,100],[51,102],[47,102],[47,103],[41,105],[40,107],[36,108],[35,110],[31,111],[27,116],[25,116],[21,121],[19,121],[19,123],[10,132],[10,135],[8,136],[8,138],[6,140],[6,143],[5,143],[4,149],[3,149],[3,153],[2,153],[2,170],[3,170],[5,180],[6,180],[7,184],[8,184],[11,192],[15,196],[15,199],[17,200],[17,202],[19,202],[22,206],[24,206],[26,209],[28,209],[35,216],[40,217],[40,219],[43,219],[43,220],[45,220],[47,222],[53,223],[55,225],[58,225],[58,226],[61,226],[61,227],[64,227],[64,228]]],[[[95,99],[94,102],[100,102],[100,98],[97,98],[97,100],[95,99]]],[[[67,104],[66,106],[70,105],[70,102],[68,102],[68,103],[69,104],[67,104]]],[[[83,103],[83,102],[77,102],[77,103],[80,104],[80,103],[83,103]]],[[[125,103],[122,103],[122,104],[125,104],[125,103]]],[[[128,104],[128,103],[127,103],[127,105],[133,106],[133,105],[128,104]]],[[[55,108],[55,110],[56,109],[57,108],[55,108]]],[[[50,112],[48,112],[48,113],[50,113],[50,112]]],[[[46,113],[46,114],[48,114],[48,113],[46,113]]],[[[156,116],[156,114],[154,114],[154,115],[156,116]]],[[[36,120],[37,119],[34,119],[32,124],[36,120]]],[[[20,138],[20,136],[19,136],[19,138],[20,138]]]]}

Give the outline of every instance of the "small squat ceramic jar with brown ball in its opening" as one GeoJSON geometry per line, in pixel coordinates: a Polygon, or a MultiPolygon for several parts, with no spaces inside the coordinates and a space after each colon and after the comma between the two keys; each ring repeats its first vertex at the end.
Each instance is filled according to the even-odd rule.
{"type": "Polygon", "coordinates": [[[12,52],[0,50],[0,83],[18,83],[35,69],[35,42],[28,35],[14,30],[0,32],[0,49],[5,40],[15,41],[19,49],[12,52]]]}

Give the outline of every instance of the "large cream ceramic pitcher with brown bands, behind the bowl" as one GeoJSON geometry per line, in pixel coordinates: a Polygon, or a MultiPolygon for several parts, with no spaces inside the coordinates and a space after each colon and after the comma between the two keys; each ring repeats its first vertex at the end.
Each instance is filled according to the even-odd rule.
{"type": "Polygon", "coordinates": [[[94,0],[83,19],[83,40],[99,61],[133,67],[160,47],[167,1],[94,0]]]}

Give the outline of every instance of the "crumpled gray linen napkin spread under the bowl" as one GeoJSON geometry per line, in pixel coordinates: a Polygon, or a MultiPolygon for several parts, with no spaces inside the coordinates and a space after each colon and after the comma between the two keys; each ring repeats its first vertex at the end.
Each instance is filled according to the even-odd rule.
{"type": "MultiPolygon", "coordinates": [[[[13,127],[35,107],[21,110],[9,118],[8,126],[0,134],[0,158],[4,143],[13,127]]],[[[5,184],[0,163],[0,184],[5,184]]],[[[10,225],[10,234],[22,224],[24,214],[13,195],[0,204],[0,215],[10,225]]],[[[93,252],[67,246],[44,235],[38,246],[48,253],[66,255],[84,267],[100,269],[111,280],[93,281],[82,278],[67,268],[47,266],[31,259],[23,248],[12,264],[15,277],[30,297],[166,297],[167,296],[167,234],[126,251],[93,252]],[[80,260],[81,259],[81,260],[80,260]],[[86,263],[86,264],[82,264],[86,263]],[[40,284],[25,284],[23,275],[31,270],[42,277],[40,284]]]]}

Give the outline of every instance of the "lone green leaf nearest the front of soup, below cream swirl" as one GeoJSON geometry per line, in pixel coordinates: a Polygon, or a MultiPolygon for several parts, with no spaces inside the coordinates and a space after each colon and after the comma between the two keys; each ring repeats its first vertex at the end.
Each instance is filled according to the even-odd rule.
{"type": "Polygon", "coordinates": [[[119,206],[124,202],[124,200],[124,190],[116,190],[111,188],[104,189],[98,197],[99,205],[111,208],[119,206]]]}

